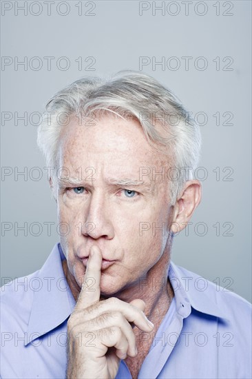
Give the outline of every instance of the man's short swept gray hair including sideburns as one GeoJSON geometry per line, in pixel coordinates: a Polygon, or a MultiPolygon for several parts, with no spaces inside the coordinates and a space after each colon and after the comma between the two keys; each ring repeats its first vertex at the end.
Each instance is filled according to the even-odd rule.
{"type": "Polygon", "coordinates": [[[200,156],[200,130],[176,96],[142,72],[121,71],[109,79],[84,77],[48,101],[37,138],[48,167],[56,167],[60,132],[70,116],[103,116],[107,112],[138,120],[147,141],[155,148],[160,146],[160,152],[162,147],[162,153],[165,150],[171,157],[176,176],[169,177],[169,197],[174,205],[185,181],[193,178],[191,170],[195,170],[200,156]],[[163,128],[165,135],[158,132],[156,125],[163,128]]]}

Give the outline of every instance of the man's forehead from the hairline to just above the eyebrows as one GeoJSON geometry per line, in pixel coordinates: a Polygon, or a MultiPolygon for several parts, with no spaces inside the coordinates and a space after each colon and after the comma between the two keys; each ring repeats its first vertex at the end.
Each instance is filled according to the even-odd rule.
{"type": "Polygon", "coordinates": [[[80,120],[72,117],[63,127],[59,143],[61,165],[111,165],[127,167],[158,165],[167,162],[167,155],[149,144],[143,127],[134,119],[103,116],[80,120]]]}

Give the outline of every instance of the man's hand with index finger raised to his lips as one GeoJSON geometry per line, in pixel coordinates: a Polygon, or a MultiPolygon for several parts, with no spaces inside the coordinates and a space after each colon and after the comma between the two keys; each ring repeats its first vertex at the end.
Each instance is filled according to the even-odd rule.
{"type": "Polygon", "coordinates": [[[120,359],[137,354],[130,322],[142,331],[153,329],[143,313],[143,300],[100,300],[102,259],[101,250],[93,246],[76,307],[67,322],[69,379],[115,378],[120,359]]]}

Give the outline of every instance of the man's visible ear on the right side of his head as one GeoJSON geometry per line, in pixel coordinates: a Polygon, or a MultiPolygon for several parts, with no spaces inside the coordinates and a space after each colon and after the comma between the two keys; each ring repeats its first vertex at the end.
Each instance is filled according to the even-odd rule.
{"type": "Polygon", "coordinates": [[[187,226],[190,218],[201,200],[201,183],[197,180],[185,182],[182,194],[174,205],[174,217],[171,223],[171,232],[180,232],[187,226]]]}

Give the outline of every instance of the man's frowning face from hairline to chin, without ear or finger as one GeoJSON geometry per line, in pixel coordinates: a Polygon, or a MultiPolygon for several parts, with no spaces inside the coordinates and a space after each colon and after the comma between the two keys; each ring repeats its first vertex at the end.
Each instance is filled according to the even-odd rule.
{"type": "Polygon", "coordinates": [[[173,208],[169,183],[155,173],[168,167],[167,156],[149,145],[132,119],[104,116],[94,126],[72,119],[61,135],[59,167],[81,179],[60,181],[57,196],[59,223],[69,225],[61,235],[68,269],[81,287],[90,247],[97,245],[101,294],[118,294],[146,278],[164,252],[173,208]],[[147,170],[141,167],[151,174],[142,175],[147,170]]]}

